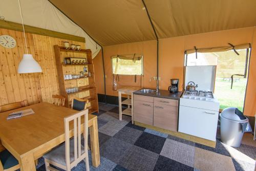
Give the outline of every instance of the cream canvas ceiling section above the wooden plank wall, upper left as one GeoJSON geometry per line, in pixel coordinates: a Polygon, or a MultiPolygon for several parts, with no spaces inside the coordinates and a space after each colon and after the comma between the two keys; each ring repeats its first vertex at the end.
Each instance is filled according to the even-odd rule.
{"type": "MultiPolygon", "coordinates": [[[[22,23],[18,0],[1,0],[0,4],[0,15],[4,16],[5,20],[22,23]]],[[[96,48],[96,42],[86,32],[73,23],[67,16],[63,15],[49,1],[20,0],[20,5],[22,7],[25,25],[85,37],[86,48],[92,50],[93,57],[100,51],[100,46],[96,48]]]]}

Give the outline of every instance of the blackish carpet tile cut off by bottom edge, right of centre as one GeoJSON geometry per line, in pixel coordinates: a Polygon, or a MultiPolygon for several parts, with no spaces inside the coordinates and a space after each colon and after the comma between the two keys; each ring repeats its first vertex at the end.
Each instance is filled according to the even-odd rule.
{"type": "Polygon", "coordinates": [[[159,156],[154,171],[193,171],[193,167],[187,166],[164,156],[159,156]]]}

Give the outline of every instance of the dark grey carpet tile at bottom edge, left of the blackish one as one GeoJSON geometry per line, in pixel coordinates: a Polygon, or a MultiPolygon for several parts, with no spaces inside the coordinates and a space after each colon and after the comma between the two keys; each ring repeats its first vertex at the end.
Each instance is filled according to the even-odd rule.
{"type": "Polygon", "coordinates": [[[154,152],[134,145],[119,164],[128,170],[151,171],[154,170],[158,156],[154,152]]]}

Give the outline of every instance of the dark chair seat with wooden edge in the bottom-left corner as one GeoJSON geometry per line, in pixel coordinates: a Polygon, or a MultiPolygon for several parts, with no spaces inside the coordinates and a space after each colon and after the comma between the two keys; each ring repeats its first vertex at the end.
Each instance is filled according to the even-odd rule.
{"type": "Polygon", "coordinates": [[[19,169],[18,160],[5,149],[0,152],[0,171],[14,171],[19,169]]]}

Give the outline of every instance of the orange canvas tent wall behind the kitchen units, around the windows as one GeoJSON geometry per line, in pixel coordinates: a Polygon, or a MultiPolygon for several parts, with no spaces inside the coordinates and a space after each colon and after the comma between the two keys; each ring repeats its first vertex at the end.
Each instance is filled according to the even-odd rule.
{"type": "MultiPolygon", "coordinates": [[[[244,114],[254,116],[256,111],[256,27],[232,29],[218,32],[186,35],[180,37],[165,38],[159,40],[159,81],[160,89],[167,90],[170,78],[179,78],[182,90],[184,51],[186,49],[208,48],[227,46],[230,42],[233,45],[244,43],[252,44],[250,58],[249,79],[245,99],[244,114]],[[253,44],[255,42],[255,44],[253,44]]],[[[111,56],[116,54],[143,53],[144,76],[142,77],[142,87],[156,88],[156,81],[150,82],[150,78],[156,76],[156,40],[134,42],[103,47],[105,74],[106,74],[106,94],[117,96],[117,92],[112,90],[113,76],[111,56]]],[[[93,60],[95,64],[95,80],[99,94],[104,94],[102,57],[99,53],[93,60]]],[[[118,86],[140,86],[140,77],[134,82],[134,76],[119,76],[118,86]]]]}

